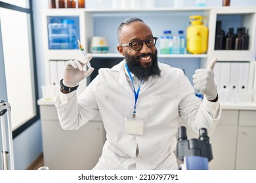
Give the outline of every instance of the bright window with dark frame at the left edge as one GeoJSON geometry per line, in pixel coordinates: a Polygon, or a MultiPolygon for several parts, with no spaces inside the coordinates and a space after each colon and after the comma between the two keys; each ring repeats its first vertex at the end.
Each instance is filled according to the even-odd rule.
{"type": "Polygon", "coordinates": [[[5,2],[0,1],[0,65],[4,66],[0,72],[5,73],[0,100],[11,105],[12,135],[16,137],[39,119],[33,14],[31,8],[24,8],[32,7],[32,0],[5,2]]]}

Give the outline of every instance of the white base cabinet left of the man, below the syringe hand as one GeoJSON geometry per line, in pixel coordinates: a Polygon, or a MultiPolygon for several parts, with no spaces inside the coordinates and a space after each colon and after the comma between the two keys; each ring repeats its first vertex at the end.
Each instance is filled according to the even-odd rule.
{"type": "Polygon", "coordinates": [[[93,169],[102,153],[106,133],[100,116],[77,130],[64,130],[53,102],[38,101],[43,137],[43,158],[51,170],[93,169]]]}

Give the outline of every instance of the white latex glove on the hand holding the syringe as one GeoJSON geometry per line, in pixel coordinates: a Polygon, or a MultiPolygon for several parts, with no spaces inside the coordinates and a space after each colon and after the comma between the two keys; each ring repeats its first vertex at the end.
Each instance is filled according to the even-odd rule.
{"type": "Polygon", "coordinates": [[[81,80],[87,78],[95,70],[93,67],[84,71],[85,65],[93,58],[88,56],[87,58],[77,58],[70,60],[65,64],[63,84],[68,87],[74,87],[81,82],[81,80]]]}

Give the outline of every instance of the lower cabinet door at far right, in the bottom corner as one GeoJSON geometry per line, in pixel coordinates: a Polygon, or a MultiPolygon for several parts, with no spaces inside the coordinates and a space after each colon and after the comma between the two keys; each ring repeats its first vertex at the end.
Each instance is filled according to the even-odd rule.
{"type": "Polygon", "coordinates": [[[256,169],[256,127],[238,127],[236,169],[256,169]]]}

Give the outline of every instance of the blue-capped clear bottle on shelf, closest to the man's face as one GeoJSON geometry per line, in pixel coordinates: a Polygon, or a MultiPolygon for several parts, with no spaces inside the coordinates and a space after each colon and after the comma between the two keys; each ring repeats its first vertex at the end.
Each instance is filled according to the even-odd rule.
{"type": "Polygon", "coordinates": [[[163,36],[160,37],[160,53],[171,54],[172,52],[172,37],[171,31],[163,31],[163,36]]]}

